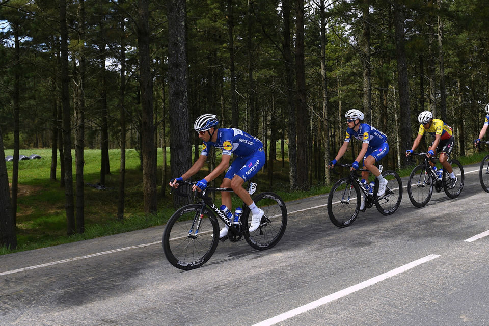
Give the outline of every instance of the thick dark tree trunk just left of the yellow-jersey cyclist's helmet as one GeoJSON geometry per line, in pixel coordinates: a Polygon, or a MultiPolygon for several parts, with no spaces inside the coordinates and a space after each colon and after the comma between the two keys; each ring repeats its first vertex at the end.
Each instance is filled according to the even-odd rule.
{"type": "MultiPolygon", "coordinates": [[[[404,12],[402,5],[394,3],[394,21],[396,38],[396,59],[397,74],[399,84],[399,106],[400,106],[400,125],[399,133],[410,135],[411,131],[411,108],[409,103],[409,79],[408,65],[406,64],[405,39],[404,39],[404,12]]],[[[411,148],[410,137],[402,137],[401,148],[411,148]]],[[[405,165],[405,164],[404,164],[405,165]]]]}

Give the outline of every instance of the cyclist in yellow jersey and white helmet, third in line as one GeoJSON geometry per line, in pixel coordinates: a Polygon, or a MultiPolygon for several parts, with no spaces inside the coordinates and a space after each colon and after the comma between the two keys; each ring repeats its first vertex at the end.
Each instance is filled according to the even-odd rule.
{"type": "MultiPolygon", "coordinates": [[[[434,140],[428,147],[426,156],[428,158],[432,156],[436,157],[437,153],[440,153],[440,163],[450,176],[448,188],[454,188],[455,184],[457,183],[457,177],[455,176],[455,173],[453,173],[452,166],[448,162],[450,153],[453,151],[453,144],[455,143],[452,128],[440,119],[433,119],[433,114],[430,111],[421,112],[418,116],[418,122],[420,123],[418,136],[414,140],[411,149],[406,150],[406,157],[411,155],[411,153],[413,153],[413,151],[419,146],[424,133],[429,133],[432,135],[432,137],[434,137],[434,140]]],[[[435,166],[431,160],[429,160],[429,164],[432,167],[435,166]]]]}

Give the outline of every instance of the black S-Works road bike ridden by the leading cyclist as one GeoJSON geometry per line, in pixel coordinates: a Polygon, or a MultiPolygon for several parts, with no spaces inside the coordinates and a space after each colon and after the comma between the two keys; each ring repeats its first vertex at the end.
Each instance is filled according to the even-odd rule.
{"type": "MultiPolygon", "coordinates": [[[[182,186],[193,186],[196,183],[195,181],[180,182],[176,188],[177,194],[183,195],[180,192],[182,186]]],[[[256,185],[249,182],[247,188],[250,195],[256,191],[256,185]]],[[[252,216],[250,208],[243,203],[239,224],[233,224],[232,219],[228,219],[214,204],[212,198],[207,196],[208,193],[215,191],[233,192],[233,189],[207,187],[201,192],[196,191],[194,199],[197,198],[197,203],[181,207],[168,220],[163,232],[163,250],[173,266],[184,270],[202,266],[214,253],[219,240],[229,239],[231,242],[237,242],[244,237],[251,247],[266,250],[274,247],[284,235],[287,226],[287,208],[279,195],[264,192],[253,198],[256,206],[264,211],[264,215],[258,229],[249,232],[252,216]],[[218,219],[229,226],[228,235],[221,239],[218,219]]]]}

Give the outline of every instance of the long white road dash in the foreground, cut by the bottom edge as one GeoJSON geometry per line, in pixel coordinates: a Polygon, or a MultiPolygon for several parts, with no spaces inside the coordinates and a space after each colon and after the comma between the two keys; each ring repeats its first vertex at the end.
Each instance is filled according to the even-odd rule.
{"type": "Polygon", "coordinates": [[[311,303],[308,303],[304,306],[301,306],[301,307],[298,307],[298,308],[295,308],[295,309],[292,309],[292,310],[289,310],[287,312],[284,312],[283,314],[280,314],[280,315],[277,315],[275,317],[271,317],[269,319],[266,319],[266,320],[263,320],[259,323],[256,323],[254,324],[253,326],[269,326],[269,325],[274,325],[278,322],[281,322],[281,321],[284,321],[286,319],[289,319],[291,317],[294,317],[294,316],[297,316],[298,314],[302,314],[306,311],[309,311],[311,309],[314,309],[314,308],[317,308],[319,306],[322,306],[322,305],[325,305],[333,300],[336,300],[336,299],[339,299],[343,296],[346,296],[348,294],[351,294],[353,292],[356,292],[356,291],[359,291],[361,289],[364,289],[370,285],[373,285],[375,283],[378,283],[378,282],[381,282],[381,281],[384,281],[390,277],[393,277],[397,274],[400,274],[400,273],[404,273],[404,271],[406,270],[409,270],[413,267],[416,267],[422,263],[425,263],[425,262],[428,262],[432,259],[435,259],[435,258],[438,258],[440,257],[440,255],[429,255],[429,256],[426,256],[426,257],[423,257],[421,259],[418,259],[418,260],[415,260],[415,261],[412,261],[410,262],[409,264],[405,264],[403,266],[400,266],[400,267],[397,267],[395,269],[392,269],[391,271],[388,271],[387,273],[384,273],[384,274],[381,274],[381,275],[378,275],[374,278],[371,278],[367,281],[364,281],[362,283],[359,283],[357,285],[354,285],[354,286],[350,286],[346,289],[343,289],[341,291],[338,291],[338,292],[335,292],[333,294],[330,294],[330,295],[327,295],[327,296],[324,296],[316,301],[313,301],[311,303]]]}

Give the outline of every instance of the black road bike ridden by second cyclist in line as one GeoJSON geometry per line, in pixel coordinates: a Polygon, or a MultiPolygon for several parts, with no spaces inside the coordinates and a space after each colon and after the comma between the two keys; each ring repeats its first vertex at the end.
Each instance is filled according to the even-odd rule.
{"type": "MultiPolygon", "coordinates": [[[[341,164],[341,166],[351,168],[351,164],[341,164]]],[[[382,196],[377,196],[377,178],[375,178],[375,185],[371,194],[369,194],[368,185],[365,186],[360,182],[357,171],[369,171],[367,169],[350,171],[349,177],[341,178],[335,183],[328,196],[328,215],[334,225],[344,228],[355,221],[360,212],[361,193],[365,196],[365,207],[362,212],[374,204],[383,215],[390,215],[399,208],[402,200],[401,178],[394,170],[382,172],[382,165],[379,166],[379,170],[388,181],[386,192],[382,196]]],[[[334,167],[332,171],[339,174],[334,170],[334,167]]]]}

